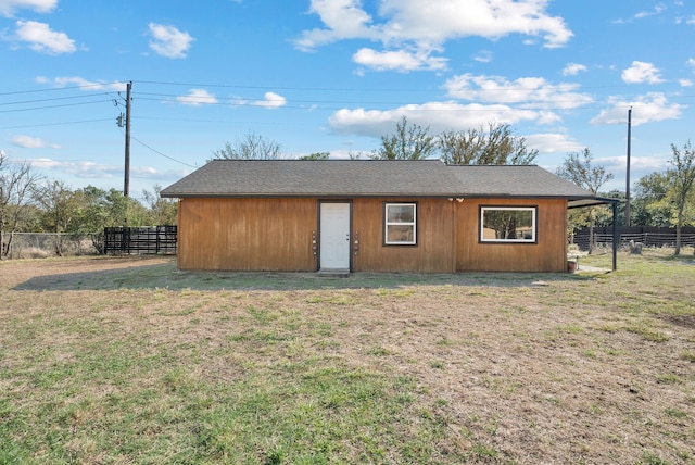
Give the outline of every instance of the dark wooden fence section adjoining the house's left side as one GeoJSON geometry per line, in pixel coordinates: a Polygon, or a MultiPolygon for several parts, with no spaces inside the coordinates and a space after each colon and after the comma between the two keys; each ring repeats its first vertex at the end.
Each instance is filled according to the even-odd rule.
{"type": "Polygon", "coordinates": [[[176,254],[176,226],[104,228],[104,254],[176,254]]]}

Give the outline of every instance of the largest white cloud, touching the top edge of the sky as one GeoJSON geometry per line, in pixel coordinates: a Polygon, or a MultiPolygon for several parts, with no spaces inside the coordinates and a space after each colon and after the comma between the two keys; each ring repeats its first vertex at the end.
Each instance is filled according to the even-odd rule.
{"type": "Polygon", "coordinates": [[[346,39],[380,41],[384,51],[363,49],[354,56],[376,70],[441,70],[443,58],[431,56],[452,39],[485,37],[496,40],[511,34],[541,39],[546,48],[565,46],[572,37],[565,21],[546,13],[547,0],[382,0],[377,21],[361,0],[312,0],[309,13],[324,28],[304,30],[294,41],[312,51],[346,39]],[[405,50],[405,52],[399,52],[405,50]],[[420,66],[415,66],[420,62],[420,66]],[[396,66],[396,64],[403,64],[396,66]]]}

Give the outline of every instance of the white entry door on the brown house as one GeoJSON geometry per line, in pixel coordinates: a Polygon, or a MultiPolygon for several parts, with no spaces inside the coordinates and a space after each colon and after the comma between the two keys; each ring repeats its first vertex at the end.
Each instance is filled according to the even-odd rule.
{"type": "Polygon", "coordinates": [[[350,203],[320,204],[320,269],[350,269],[350,203]]]}

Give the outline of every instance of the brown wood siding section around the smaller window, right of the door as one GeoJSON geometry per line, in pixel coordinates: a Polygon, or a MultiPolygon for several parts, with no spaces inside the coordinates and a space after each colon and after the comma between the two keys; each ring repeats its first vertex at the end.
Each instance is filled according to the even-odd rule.
{"type": "Polygon", "coordinates": [[[454,273],[454,210],[446,199],[397,199],[417,203],[417,246],[384,246],[383,204],[387,199],[353,202],[353,251],[355,272],[454,273]]]}

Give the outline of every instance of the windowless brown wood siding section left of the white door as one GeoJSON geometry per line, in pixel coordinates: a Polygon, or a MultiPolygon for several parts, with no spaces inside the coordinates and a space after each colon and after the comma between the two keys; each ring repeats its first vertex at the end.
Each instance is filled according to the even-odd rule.
{"type": "Polygon", "coordinates": [[[181,269],[316,269],[316,199],[182,199],[181,269]]]}

